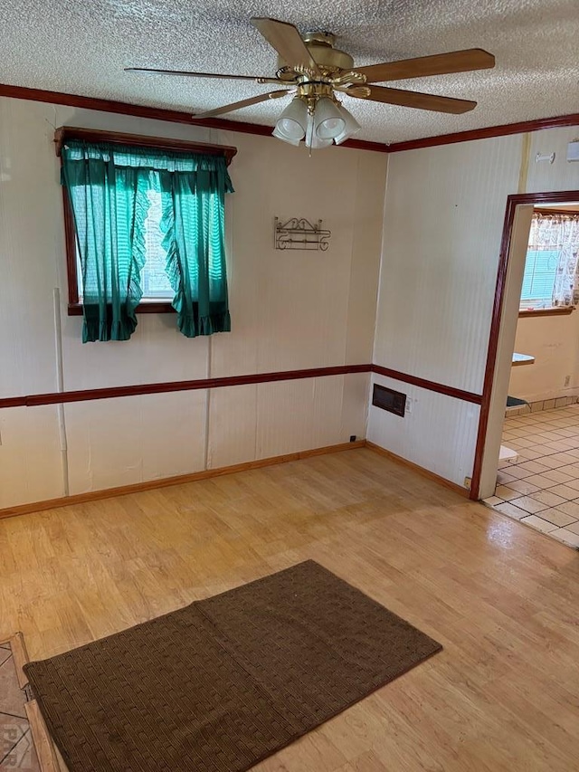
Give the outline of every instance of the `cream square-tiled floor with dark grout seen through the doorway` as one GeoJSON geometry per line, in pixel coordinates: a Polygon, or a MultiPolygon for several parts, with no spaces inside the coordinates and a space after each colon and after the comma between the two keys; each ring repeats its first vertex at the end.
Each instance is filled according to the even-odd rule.
{"type": "Polygon", "coordinates": [[[579,404],[507,418],[503,444],[518,458],[484,503],[579,549],[579,404]]]}

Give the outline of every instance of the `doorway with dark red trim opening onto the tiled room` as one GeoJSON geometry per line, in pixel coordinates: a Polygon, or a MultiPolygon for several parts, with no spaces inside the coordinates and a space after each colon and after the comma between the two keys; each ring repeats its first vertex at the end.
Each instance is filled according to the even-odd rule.
{"type": "Polygon", "coordinates": [[[579,191],[509,196],[473,498],[575,548],[578,301],[579,191]]]}

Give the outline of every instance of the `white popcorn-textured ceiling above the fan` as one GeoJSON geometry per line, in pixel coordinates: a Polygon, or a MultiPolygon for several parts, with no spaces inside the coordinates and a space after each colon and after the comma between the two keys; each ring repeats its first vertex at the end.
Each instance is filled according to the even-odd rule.
{"type": "MultiPolygon", "coordinates": [[[[123,67],[273,75],[276,54],[253,15],[336,33],[358,65],[470,47],[495,54],[494,70],[388,83],[479,102],[462,116],[345,98],[363,125],[358,138],[397,142],[579,111],[578,0],[0,0],[0,82],[208,110],[269,88],[123,67]]],[[[223,118],[273,125],[283,104],[223,118]]]]}

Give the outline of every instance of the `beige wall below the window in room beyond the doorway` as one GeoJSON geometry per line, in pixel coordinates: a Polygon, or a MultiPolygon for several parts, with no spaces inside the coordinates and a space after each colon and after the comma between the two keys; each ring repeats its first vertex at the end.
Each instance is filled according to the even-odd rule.
{"type": "Polygon", "coordinates": [[[508,393],[536,402],[579,394],[579,314],[519,317],[515,350],[535,357],[513,367],[508,393]],[[569,378],[565,385],[566,378],[569,378]]]}

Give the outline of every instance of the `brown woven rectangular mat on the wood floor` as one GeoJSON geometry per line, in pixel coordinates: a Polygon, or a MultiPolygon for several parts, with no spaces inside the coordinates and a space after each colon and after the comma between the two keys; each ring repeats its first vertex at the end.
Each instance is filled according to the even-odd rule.
{"type": "Polygon", "coordinates": [[[440,650],[308,560],[25,672],[71,772],[242,772],[440,650]]]}

